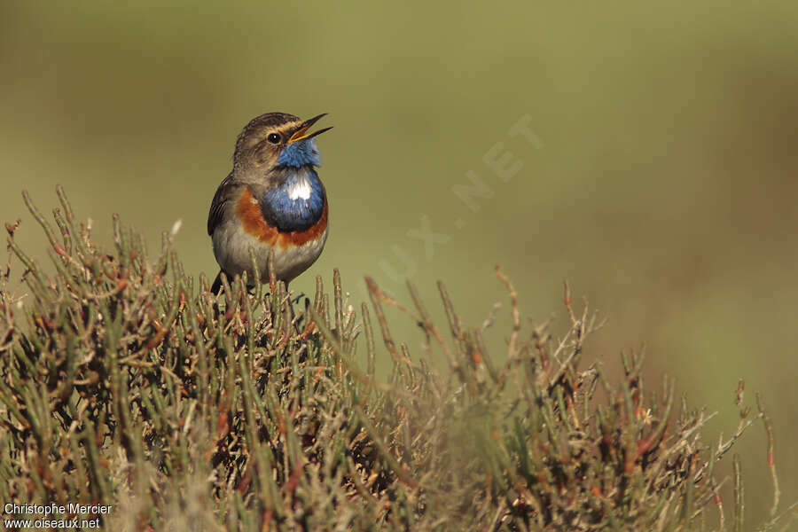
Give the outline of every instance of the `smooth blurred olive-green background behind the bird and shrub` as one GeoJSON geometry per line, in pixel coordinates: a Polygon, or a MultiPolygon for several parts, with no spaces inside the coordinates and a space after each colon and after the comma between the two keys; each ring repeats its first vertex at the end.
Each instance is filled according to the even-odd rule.
{"type": "MultiPolygon", "coordinates": [[[[207,208],[239,130],[330,113],[330,239],[293,289],[339,267],[356,303],[370,273],[434,306],[443,278],[477,324],[506,300],[500,264],[524,317],[563,325],[568,279],[608,319],[589,353],[616,368],[645,343],[649,388],[668,372],[719,412],[708,441],[736,426],[739,377],[762,391],[792,502],[798,4],[580,4],[2,2],[0,213],[40,257],[23,187],[52,207],[64,184],[106,243],[113,212],[152,251],[179,218],[186,269],[213,278],[207,208]],[[522,167],[503,180],[496,156],[522,167]]],[[[738,450],[753,524],[761,426],[738,450]]]]}

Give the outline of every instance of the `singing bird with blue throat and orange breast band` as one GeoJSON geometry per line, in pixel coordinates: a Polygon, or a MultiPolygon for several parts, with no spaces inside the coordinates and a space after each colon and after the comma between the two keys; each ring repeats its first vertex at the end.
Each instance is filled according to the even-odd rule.
{"type": "MultiPolygon", "coordinates": [[[[257,280],[268,282],[266,263],[274,250],[275,274],[287,286],[324,249],[329,207],[317,174],[315,137],[332,128],[308,131],[325,114],[302,121],[293,114],[266,113],[239,134],[232,171],[216,189],[207,215],[216,262],[228,278],[247,271],[254,286],[252,247],[257,280]]],[[[222,271],[213,293],[221,289],[222,271]]]]}

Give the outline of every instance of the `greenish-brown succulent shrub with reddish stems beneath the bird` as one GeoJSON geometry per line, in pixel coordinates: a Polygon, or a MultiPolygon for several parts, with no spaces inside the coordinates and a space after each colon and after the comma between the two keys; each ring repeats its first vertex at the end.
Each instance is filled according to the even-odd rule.
{"type": "MultiPolygon", "coordinates": [[[[174,234],[150,262],[114,219],[108,254],[60,189],[59,199],[54,229],[26,196],[52,275],[14,243],[18,224],[6,226],[27,288],[11,290],[5,272],[4,502],[112,505],[56,517],[124,530],[676,530],[717,515],[723,528],[716,462],[755,419],[771,434],[740,387],[736,433],[701,442],[708,416],[679,409],[669,382],[649,392],[642,356],[624,356],[617,385],[599,364],[580,369],[596,328],[586,305],[575,314],[567,294],[561,338],[529,328],[498,270],[512,310],[501,356],[482,340],[495,317],[464,325],[442,284],[448,339],[413,286],[405,309],[367,278],[393,363],[380,383],[372,311],[345,301],[337,271],[332,297],[318,278],[304,308],[281,284],[248,293],[241,278],[217,299],[185,274],[174,234]],[[392,338],[388,306],[426,333],[423,356],[392,338]]],[[[735,527],[741,494],[738,473],[735,527]]]]}

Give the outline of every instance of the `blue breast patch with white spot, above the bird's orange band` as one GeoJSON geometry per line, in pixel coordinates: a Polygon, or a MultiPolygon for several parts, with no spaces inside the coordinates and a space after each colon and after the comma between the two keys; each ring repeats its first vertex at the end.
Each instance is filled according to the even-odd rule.
{"type": "Polygon", "coordinates": [[[313,168],[290,169],[286,175],[282,184],[264,192],[259,200],[263,218],[278,231],[306,231],[325,210],[325,189],[313,168]]]}

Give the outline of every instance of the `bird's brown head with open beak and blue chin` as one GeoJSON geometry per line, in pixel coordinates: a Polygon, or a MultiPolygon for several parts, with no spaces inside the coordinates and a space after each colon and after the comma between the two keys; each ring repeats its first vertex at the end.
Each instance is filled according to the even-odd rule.
{"type": "Polygon", "coordinates": [[[236,141],[233,168],[238,173],[265,176],[275,168],[319,166],[313,137],[332,129],[309,129],[326,113],[301,120],[293,114],[266,113],[246,124],[236,141]]]}

